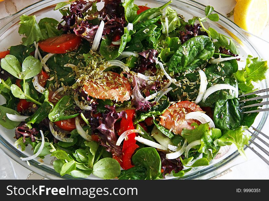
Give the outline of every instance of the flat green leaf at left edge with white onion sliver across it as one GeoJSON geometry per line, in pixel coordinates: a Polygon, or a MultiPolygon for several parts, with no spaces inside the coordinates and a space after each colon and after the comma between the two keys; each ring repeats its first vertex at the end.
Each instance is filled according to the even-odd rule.
{"type": "Polygon", "coordinates": [[[13,129],[16,128],[20,122],[18,121],[11,121],[6,114],[18,114],[19,113],[15,110],[9,109],[7,107],[4,106],[0,106],[0,125],[2,125],[3,127],[7,128],[7,129],[13,129]]]}

